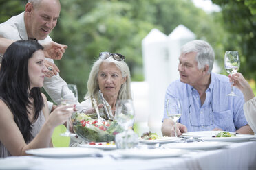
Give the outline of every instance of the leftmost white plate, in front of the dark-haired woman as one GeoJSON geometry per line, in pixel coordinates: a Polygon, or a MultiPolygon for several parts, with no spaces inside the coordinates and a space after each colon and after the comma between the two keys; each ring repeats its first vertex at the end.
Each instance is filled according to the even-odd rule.
{"type": "Polygon", "coordinates": [[[83,147],[49,147],[40,149],[31,149],[25,151],[27,154],[43,157],[78,157],[91,156],[100,153],[100,149],[83,147]]]}

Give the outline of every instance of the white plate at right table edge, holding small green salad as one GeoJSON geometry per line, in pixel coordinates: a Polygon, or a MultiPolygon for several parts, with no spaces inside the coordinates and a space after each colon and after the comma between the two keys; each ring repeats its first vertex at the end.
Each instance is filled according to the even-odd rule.
{"type": "Polygon", "coordinates": [[[237,134],[233,137],[202,137],[200,139],[204,141],[248,141],[249,139],[256,138],[255,135],[250,134],[237,134]]]}

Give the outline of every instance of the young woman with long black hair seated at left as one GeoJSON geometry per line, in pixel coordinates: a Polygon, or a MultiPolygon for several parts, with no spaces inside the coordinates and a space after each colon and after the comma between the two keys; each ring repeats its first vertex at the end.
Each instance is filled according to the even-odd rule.
{"type": "Polygon", "coordinates": [[[45,54],[39,43],[19,40],[3,55],[0,69],[0,156],[25,155],[28,149],[52,147],[54,127],[65,123],[74,106],[49,114],[43,86],[45,54]]]}

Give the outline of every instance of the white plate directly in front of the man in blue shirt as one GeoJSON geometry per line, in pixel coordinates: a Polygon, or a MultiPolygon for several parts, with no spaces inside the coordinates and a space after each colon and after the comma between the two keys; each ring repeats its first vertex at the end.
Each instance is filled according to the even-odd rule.
{"type": "MultiPolygon", "coordinates": [[[[180,137],[183,137],[183,138],[212,137],[212,136],[216,136],[220,132],[224,132],[224,131],[195,131],[195,132],[186,132],[186,133],[183,133],[182,135],[180,135],[180,137]]],[[[232,134],[233,132],[230,132],[230,133],[232,134]]],[[[233,133],[233,134],[235,134],[235,133],[233,133]]]]}

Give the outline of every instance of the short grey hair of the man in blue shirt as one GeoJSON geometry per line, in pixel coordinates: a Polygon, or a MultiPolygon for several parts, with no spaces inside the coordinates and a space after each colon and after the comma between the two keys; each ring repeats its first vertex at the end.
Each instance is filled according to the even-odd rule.
{"type": "Polygon", "coordinates": [[[181,53],[186,54],[192,52],[197,53],[195,61],[198,62],[198,69],[202,69],[204,66],[209,65],[208,73],[211,73],[215,59],[215,53],[211,45],[204,40],[192,40],[187,42],[181,48],[181,53]]]}

